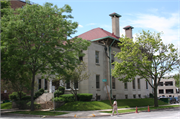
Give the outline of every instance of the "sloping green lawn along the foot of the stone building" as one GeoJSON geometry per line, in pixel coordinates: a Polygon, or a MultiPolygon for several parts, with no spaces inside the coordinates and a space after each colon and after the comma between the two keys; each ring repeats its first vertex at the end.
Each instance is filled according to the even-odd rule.
{"type": "MultiPolygon", "coordinates": [[[[112,101],[113,102],[113,101],[112,101]]],[[[142,106],[153,106],[153,98],[143,99],[120,99],[117,100],[118,108],[129,108],[129,107],[142,107],[142,106]]],[[[166,105],[167,103],[158,101],[159,105],[166,105]]],[[[69,102],[63,106],[56,108],[59,111],[88,111],[88,110],[102,110],[111,109],[109,100],[105,101],[91,101],[91,102],[69,102]]]]}

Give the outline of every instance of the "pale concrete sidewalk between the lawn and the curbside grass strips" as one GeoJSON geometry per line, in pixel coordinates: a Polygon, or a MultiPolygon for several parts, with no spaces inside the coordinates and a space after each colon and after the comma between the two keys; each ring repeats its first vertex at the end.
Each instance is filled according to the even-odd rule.
{"type": "MultiPolygon", "coordinates": [[[[180,104],[173,104],[173,105],[180,105],[180,104]]],[[[166,106],[166,105],[164,105],[166,106]]],[[[126,109],[135,109],[133,108],[120,108],[118,110],[126,110],[126,109]]],[[[143,107],[138,107],[143,108],[143,107]]],[[[87,117],[100,117],[100,116],[110,116],[111,113],[101,113],[101,111],[112,111],[112,109],[106,109],[106,110],[93,110],[93,111],[55,111],[55,112],[68,112],[68,114],[64,115],[57,115],[57,116],[44,116],[44,115],[27,115],[27,114],[12,114],[7,112],[13,112],[13,111],[29,111],[29,110],[16,110],[16,109],[1,109],[1,115],[2,116],[13,116],[13,117],[45,117],[45,118],[87,118],[87,117]]],[[[50,109],[43,109],[41,111],[50,111],[50,109]]],[[[53,111],[53,110],[52,110],[53,111]]],[[[121,113],[122,114],[129,114],[129,113],[135,113],[135,112],[128,112],[128,113],[121,113]]]]}

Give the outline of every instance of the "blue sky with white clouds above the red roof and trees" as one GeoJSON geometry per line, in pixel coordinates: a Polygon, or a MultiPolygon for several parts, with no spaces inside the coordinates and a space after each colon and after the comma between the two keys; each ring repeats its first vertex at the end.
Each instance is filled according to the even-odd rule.
{"type": "Polygon", "coordinates": [[[68,4],[73,9],[73,21],[79,23],[78,36],[94,28],[103,28],[112,33],[109,14],[120,14],[120,36],[125,34],[123,27],[134,27],[133,37],[142,30],[163,32],[165,44],[173,43],[180,52],[180,0],[31,0],[43,5],[53,3],[59,8],[68,4]]]}

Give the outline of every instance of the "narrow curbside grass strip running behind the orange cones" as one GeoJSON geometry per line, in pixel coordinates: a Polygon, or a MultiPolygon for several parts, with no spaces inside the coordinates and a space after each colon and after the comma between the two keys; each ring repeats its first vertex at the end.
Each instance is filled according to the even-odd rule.
{"type": "MultiPolygon", "coordinates": [[[[156,109],[167,109],[167,108],[173,108],[173,107],[179,107],[179,105],[170,105],[170,106],[159,106],[159,107],[149,107],[150,111],[151,110],[156,110],[156,109]]],[[[138,108],[138,111],[147,111],[147,108],[138,108]]],[[[135,112],[136,109],[125,109],[125,110],[118,110],[118,113],[127,113],[127,112],[135,112]]],[[[112,111],[101,111],[103,113],[112,113],[112,111]]],[[[116,111],[115,111],[116,113],[116,111]]]]}

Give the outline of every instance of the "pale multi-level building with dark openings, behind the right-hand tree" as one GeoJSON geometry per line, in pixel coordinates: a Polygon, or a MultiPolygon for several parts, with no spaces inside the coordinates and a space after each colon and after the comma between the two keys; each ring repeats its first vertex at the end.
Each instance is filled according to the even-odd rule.
{"type": "Polygon", "coordinates": [[[158,85],[158,97],[178,97],[180,96],[179,89],[175,86],[174,78],[164,78],[158,85]]]}

